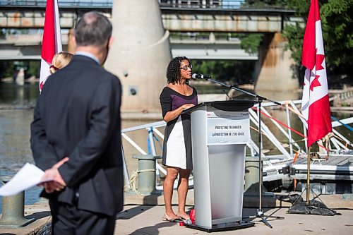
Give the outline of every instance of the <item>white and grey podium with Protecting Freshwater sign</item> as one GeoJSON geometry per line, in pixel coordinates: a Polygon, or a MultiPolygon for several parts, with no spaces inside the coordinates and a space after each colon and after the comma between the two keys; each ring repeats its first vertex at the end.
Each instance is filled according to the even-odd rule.
{"type": "Polygon", "coordinates": [[[242,221],[248,109],[256,101],[203,102],[191,114],[195,224],[203,231],[251,227],[242,221]]]}

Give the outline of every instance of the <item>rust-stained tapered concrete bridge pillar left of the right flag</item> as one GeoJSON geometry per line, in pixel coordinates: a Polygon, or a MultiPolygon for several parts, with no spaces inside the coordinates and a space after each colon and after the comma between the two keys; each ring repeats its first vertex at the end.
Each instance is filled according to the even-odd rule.
{"type": "Polygon", "coordinates": [[[265,35],[259,49],[256,92],[276,100],[298,98],[299,80],[293,73],[294,60],[285,50],[287,41],[280,32],[265,35]],[[264,95],[267,93],[267,95],[264,95]]]}

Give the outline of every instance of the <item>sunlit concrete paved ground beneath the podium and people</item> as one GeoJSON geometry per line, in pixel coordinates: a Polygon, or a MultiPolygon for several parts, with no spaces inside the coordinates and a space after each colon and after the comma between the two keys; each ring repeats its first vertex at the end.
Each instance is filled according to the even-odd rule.
{"type": "MultiPolygon", "coordinates": [[[[174,193],[176,196],[177,193],[174,193]]],[[[176,197],[173,198],[175,200],[176,197]]],[[[278,200],[275,207],[263,208],[265,215],[285,217],[285,219],[268,218],[267,221],[273,229],[266,226],[260,218],[252,219],[253,227],[239,229],[236,231],[219,231],[215,234],[353,234],[353,197],[352,195],[320,195],[320,199],[330,209],[336,210],[341,215],[319,216],[319,215],[295,215],[287,214],[289,203],[280,203],[278,200]]],[[[174,201],[175,202],[175,201],[174,201]]],[[[193,191],[189,192],[188,208],[193,205],[193,191]]],[[[197,212],[196,212],[197,213],[197,212]]],[[[162,221],[164,206],[161,195],[134,195],[126,193],[124,211],[119,213],[116,219],[116,235],[134,234],[208,234],[205,231],[181,227],[179,223],[162,221]],[[150,205],[148,205],[150,204],[150,205]]],[[[244,208],[243,217],[256,215],[255,208],[244,208]]],[[[36,234],[44,224],[50,221],[50,213],[47,202],[42,201],[35,205],[25,207],[27,218],[35,217],[36,221],[23,228],[0,227],[0,234],[36,234]]],[[[244,219],[246,220],[246,219],[244,219]]]]}

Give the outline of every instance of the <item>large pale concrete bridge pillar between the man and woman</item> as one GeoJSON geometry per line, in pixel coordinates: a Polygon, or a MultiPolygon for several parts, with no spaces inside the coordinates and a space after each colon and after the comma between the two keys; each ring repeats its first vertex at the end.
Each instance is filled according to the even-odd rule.
{"type": "Polygon", "coordinates": [[[160,112],[172,54],[157,0],[114,0],[114,43],[105,68],[123,85],[122,112],[160,112]]]}

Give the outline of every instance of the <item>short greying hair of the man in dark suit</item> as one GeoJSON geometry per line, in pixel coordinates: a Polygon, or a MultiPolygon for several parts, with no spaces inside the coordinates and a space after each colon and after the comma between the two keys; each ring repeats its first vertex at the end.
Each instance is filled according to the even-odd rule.
{"type": "Polygon", "coordinates": [[[78,46],[104,46],[112,36],[112,23],[102,13],[85,13],[76,23],[75,38],[78,46]]]}

